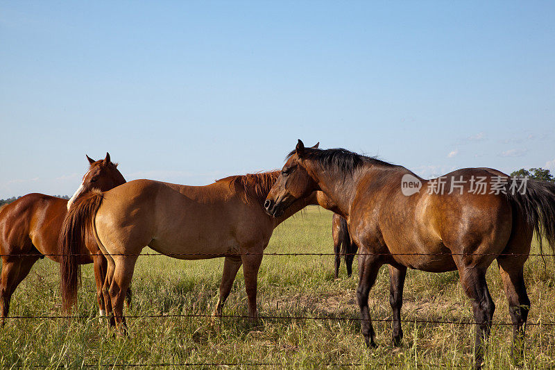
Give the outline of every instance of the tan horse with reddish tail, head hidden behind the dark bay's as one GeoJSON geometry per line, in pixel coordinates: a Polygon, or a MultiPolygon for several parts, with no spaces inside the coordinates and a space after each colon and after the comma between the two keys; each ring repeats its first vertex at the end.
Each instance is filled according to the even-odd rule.
{"type": "Polygon", "coordinates": [[[69,209],[60,233],[65,253],[60,264],[65,308],[71,308],[76,299],[78,260],[74,253],[85,248],[81,230],[86,229],[94,233],[108,259],[105,305],[122,332],[126,332],[123,296],[145,246],[183,260],[225,257],[216,316],[243,264],[248,314],[255,319],[257,274],[273,229],[307,203],[318,201],[318,195],[312,194],[291,205],[281,217],[268,216],[264,200],[279,174],[230,176],[205,186],[133,180],[108,192],[83,196],[69,209]]]}

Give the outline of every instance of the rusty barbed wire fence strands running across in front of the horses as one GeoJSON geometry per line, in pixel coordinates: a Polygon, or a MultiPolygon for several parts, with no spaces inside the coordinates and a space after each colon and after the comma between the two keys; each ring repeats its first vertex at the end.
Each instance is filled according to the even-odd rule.
{"type": "MultiPolygon", "coordinates": [[[[544,260],[546,257],[554,258],[555,254],[552,253],[340,253],[343,255],[353,255],[353,256],[360,256],[360,255],[381,255],[381,256],[435,256],[435,257],[443,257],[443,256],[513,256],[513,257],[522,257],[522,256],[529,256],[529,257],[541,257],[544,260]]],[[[227,256],[239,256],[239,255],[268,255],[268,256],[335,256],[336,253],[319,253],[319,252],[308,252],[308,253],[278,253],[278,252],[259,252],[259,253],[110,253],[110,255],[133,255],[133,256],[147,256],[147,257],[174,257],[180,259],[187,259],[187,258],[194,258],[194,257],[204,257],[204,258],[222,258],[227,256]]],[[[64,254],[62,253],[49,253],[49,254],[42,254],[42,253],[19,253],[19,254],[0,254],[0,257],[62,257],[64,254]]],[[[72,256],[75,257],[83,257],[83,256],[93,256],[91,253],[74,253],[72,256]]],[[[49,276],[52,274],[49,274],[49,276]]],[[[172,318],[210,318],[210,319],[252,319],[252,317],[244,314],[201,314],[201,313],[185,313],[185,314],[126,314],[124,315],[128,319],[172,319],[172,318]]],[[[91,316],[91,315],[20,315],[20,316],[9,316],[5,318],[6,321],[10,320],[57,320],[57,319],[99,319],[99,317],[91,316]]],[[[332,317],[332,316],[305,316],[305,315],[295,315],[295,316],[284,316],[284,315],[259,315],[257,319],[261,320],[276,320],[276,321],[292,321],[292,320],[319,320],[319,321],[363,321],[363,319],[359,317],[332,317]]],[[[392,322],[392,317],[386,318],[372,318],[373,322],[383,322],[388,323],[392,322]]],[[[446,325],[463,325],[463,326],[476,326],[478,325],[474,321],[469,321],[468,319],[461,319],[461,320],[431,320],[431,319],[400,319],[402,323],[422,323],[422,324],[446,324],[446,325]]],[[[527,326],[543,326],[553,328],[555,327],[555,321],[547,321],[543,322],[541,319],[537,319],[536,321],[529,320],[526,323],[527,326]]],[[[513,326],[513,323],[506,322],[506,321],[497,321],[491,323],[491,326],[513,326]]],[[[289,364],[289,363],[288,363],[289,364]]],[[[380,362],[380,363],[373,363],[375,366],[399,366],[402,365],[402,362],[380,362]]],[[[444,366],[443,364],[434,364],[433,362],[427,362],[427,365],[438,367],[444,366]]],[[[245,367],[277,367],[284,365],[283,362],[180,362],[180,363],[172,363],[172,362],[160,362],[156,364],[148,364],[148,363],[136,363],[136,364],[129,364],[129,363],[114,363],[114,364],[105,364],[106,367],[234,367],[234,366],[245,366],[245,367]]],[[[289,364],[291,365],[291,364],[289,364]]],[[[328,363],[328,364],[319,364],[322,367],[361,367],[366,366],[367,364],[363,363],[328,363]]],[[[79,364],[79,367],[99,367],[99,364],[79,364]]],[[[449,364],[449,367],[468,367],[467,364],[449,364]]],[[[15,367],[29,367],[28,365],[15,365],[15,367]]],[[[42,364],[33,364],[31,367],[35,368],[46,368],[51,367],[51,365],[42,365],[42,364]]]]}

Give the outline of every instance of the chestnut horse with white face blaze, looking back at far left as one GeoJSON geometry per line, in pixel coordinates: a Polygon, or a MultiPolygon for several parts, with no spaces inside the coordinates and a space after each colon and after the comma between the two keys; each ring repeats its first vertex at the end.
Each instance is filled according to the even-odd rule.
{"type": "MultiPolygon", "coordinates": [[[[58,235],[67,213],[67,206],[93,188],[109,190],[121,185],[126,180],[117,170],[117,164],[110,162],[110,154],[104,160],[92,160],[87,155],[89,170],[83,176],[79,192],[67,199],[45,194],[32,193],[5,205],[0,209],[0,252],[2,255],[2,273],[0,277],[0,309],[3,326],[10,309],[10,299],[17,285],[27,276],[33,264],[46,257],[60,262],[58,235]]],[[[96,246],[92,235],[85,235],[88,248],[76,251],[78,264],[94,263],[96,280],[96,298],[100,314],[103,315],[104,301],[101,287],[106,274],[106,260],[96,246]],[[94,255],[90,251],[96,251],[94,255]]]]}

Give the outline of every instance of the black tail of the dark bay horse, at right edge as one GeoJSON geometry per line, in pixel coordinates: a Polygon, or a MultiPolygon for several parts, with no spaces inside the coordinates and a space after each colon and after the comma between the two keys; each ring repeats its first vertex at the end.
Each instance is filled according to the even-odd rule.
{"type": "Polygon", "coordinates": [[[555,253],[555,183],[543,180],[520,180],[522,190],[507,192],[524,222],[536,231],[543,255],[543,241],[555,253]]]}

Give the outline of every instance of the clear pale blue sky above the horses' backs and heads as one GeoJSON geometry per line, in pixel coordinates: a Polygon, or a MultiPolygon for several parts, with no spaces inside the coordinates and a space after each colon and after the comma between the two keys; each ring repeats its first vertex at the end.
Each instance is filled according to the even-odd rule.
{"type": "Polygon", "coordinates": [[[555,170],[551,1],[1,1],[0,198],[281,168],[555,170]]]}

